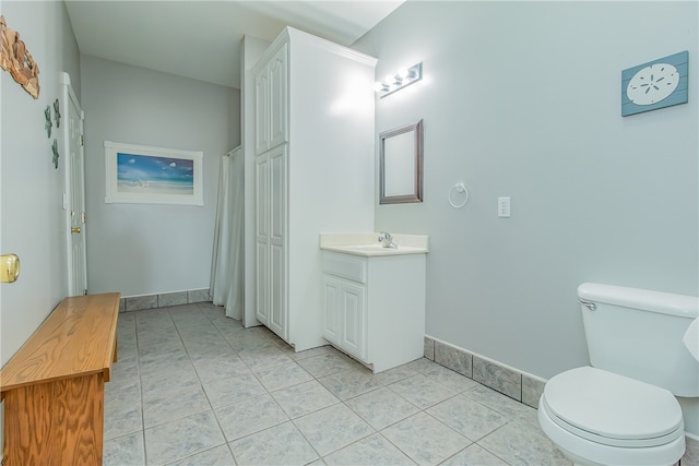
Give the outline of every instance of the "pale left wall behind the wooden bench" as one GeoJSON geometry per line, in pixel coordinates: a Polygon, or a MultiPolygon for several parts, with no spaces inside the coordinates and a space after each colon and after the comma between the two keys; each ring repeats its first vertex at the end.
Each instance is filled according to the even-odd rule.
{"type": "MultiPolygon", "coordinates": [[[[8,26],[20,33],[39,67],[39,98],[33,99],[0,70],[0,253],[20,256],[14,284],[1,284],[0,366],[4,366],[66,296],[63,157],[51,162],[54,138],[63,147],[62,127],[44,130],[44,109],[61,97],[60,76],[80,92],[80,57],[62,2],[2,1],[8,26]]],[[[52,115],[52,113],[51,113],[52,115]]],[[[0,410],[0,418],[2,411],[0,410]]],[[[2,439],[0,420],[0,439],[2,439]]],[[[1,440],[0,440],[1,442],[1,440]]]]}

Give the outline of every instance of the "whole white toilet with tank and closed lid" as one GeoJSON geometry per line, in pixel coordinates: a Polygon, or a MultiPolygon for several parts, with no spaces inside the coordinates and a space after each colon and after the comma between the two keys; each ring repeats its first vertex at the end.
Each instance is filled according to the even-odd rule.
{"type": "Polygon", "coordinates": [[[578,296],[593,367],[546,383],[542,429],[576,464],[675,464],[685,432],[674,395],[699,396],[699,362],[683,344],[699,299],[590,283],[578,296]]]}

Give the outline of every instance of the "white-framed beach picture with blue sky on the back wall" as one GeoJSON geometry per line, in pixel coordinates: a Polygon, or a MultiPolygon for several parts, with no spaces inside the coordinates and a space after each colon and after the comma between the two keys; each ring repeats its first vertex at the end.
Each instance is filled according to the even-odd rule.
{"type": "Polygon", "coordinates": [[[204,205],[201,151],[105,141],[106,203],[204,205]]]}

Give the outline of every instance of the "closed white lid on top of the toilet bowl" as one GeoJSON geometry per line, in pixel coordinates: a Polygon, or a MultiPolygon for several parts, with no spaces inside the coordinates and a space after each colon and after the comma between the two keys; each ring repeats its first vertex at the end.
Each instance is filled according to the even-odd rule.
{"type": "Polygon", "coordinates": [[[601,443],[663,444],[684,430],[682,409],[671,392],[591,367],[550,379],[543,399],[548,410],[577,433],[590,433],[591,440],[601,443]]]}

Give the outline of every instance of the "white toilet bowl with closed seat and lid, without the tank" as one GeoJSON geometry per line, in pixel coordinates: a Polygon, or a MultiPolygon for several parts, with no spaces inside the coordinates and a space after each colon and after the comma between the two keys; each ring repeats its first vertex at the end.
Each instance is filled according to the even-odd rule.
{"type": "Polygon", "coordinates": [[[546,383],[538,421],[580,465],[673,465],[685,452],[682,409],[672,393],[591,367],[546,383]]]}

